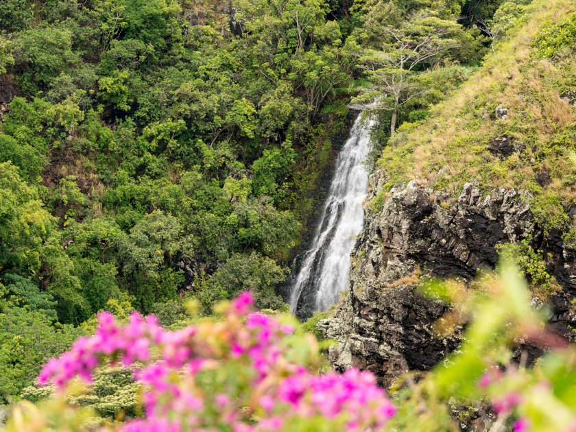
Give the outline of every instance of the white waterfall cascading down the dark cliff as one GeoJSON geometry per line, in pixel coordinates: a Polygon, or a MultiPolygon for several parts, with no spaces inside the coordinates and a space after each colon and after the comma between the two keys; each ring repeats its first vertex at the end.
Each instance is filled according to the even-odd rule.
{"type": "Polygon", "coordinates": [[[340,291],[348,289],[350,252],[364,224],[362,201],[368,187],[368,172],[363,162],[370,151],[370,134],[369,128],[361,126],[360,117],[338,155],[311,249],[304,252],[291,288],[293,313],[304,290],[316,293],[312,309],[325,311],[337,302],[340,291]]]}

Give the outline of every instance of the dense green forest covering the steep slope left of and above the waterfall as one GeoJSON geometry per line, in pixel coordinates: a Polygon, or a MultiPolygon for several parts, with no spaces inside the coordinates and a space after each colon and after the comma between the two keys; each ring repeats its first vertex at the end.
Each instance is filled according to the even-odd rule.
{"type": "Polygon", "coordinates": [[[1,0],[0,402],[102,310],[170,326],[249,290],[287,311],[349,107],[374,165],[526,5],[1,0]]]}

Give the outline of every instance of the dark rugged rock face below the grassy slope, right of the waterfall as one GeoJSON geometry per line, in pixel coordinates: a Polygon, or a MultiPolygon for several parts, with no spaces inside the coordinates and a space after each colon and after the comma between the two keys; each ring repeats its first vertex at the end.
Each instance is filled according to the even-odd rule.
{"type": "MultiPolygon", "coordinates": [[[[370,177],[371,197],[385,182],[380,171],[370,177]]],[[[459,338],[433,334],[431,325],[446,305],[420,297],[412,275],[471,280],[478,269],[494,268],[498,243],[531,235],[538,248],[551,253],[549,272],[568,291],[573,289],[575,251],[562,245],[560,233],[543,241],[527,204],[530,197],[503,188],[482,195],[470,183],[457,200],[416,181],[394,186],[382,210],[368,215],[352,250],[350,293],[335,317],[319,324],[326,337],[337,341],[330,348],[335,367],[371,370],[385,387],[408,369],[433,367],[458,346],[459,338]]],[[[551,322],[559,333],[568,331],[574,315],[568,313],[568,291],[554,299],[551,322]]]]}

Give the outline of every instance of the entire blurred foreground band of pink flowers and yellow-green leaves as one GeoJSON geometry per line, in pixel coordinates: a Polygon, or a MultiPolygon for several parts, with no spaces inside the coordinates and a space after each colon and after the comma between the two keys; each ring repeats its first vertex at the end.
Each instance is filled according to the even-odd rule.
{"type": "Polygon", "coordinates": [[[254,312],[243,293],[221,319],[179,331],[153,315],[121,325],[101,313],[95,335],[38,377],[64,397],[22,401],[6,431],[576,432],[576,349],[549,329],[516,267],[503,263],[468,285],[423,281],[420,294],[451,304],[434,331],[457,332],[461,345],[433,370],[400,376],[387,389],[392,401],[370,372],[326,370],[313,335],[293,334],[293,317],[254,312]],[[115,421],[69,403],[87,400],[69,396],[78,379],[104,388],[101,371],[122,365],[134,371],[143,415],[133,401],[115,421]]]}

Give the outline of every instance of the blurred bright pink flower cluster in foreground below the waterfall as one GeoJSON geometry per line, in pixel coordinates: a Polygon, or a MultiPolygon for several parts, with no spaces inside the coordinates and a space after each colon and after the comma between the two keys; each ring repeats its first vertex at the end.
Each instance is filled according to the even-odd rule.
{"type": "Polygon", "coordinates": [[[95,335],[49,361],[38,383],[64,389],[75,377],[91,381],[104,361],[141,365],[145,416],[117,424],[121,432],[383,430],[395,408],[370,372],[319,375],[313,337],[251,312],[243,293],[223,320],[174,332],[154,315],[133,313],[121,326],[104,312],[95,335]]]}

